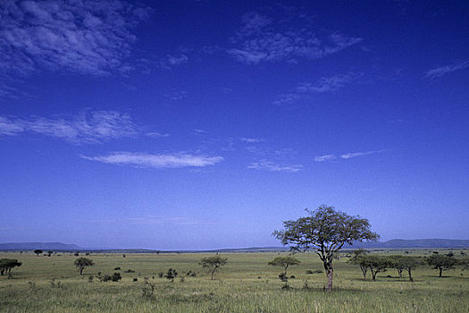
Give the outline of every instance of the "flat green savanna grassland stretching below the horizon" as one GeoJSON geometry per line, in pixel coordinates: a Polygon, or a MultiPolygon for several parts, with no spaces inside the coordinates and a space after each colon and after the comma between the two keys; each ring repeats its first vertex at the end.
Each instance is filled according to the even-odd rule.
{"type": "MultiPolygon", "coordinates": [[[[390,255],[402,251],[381,252],[390,255]]],[[[410,255],[429,255],[428,250],[410,255]]],[[[459,251],[455,250],[455,254],[459,251]]],[[[282,253],[286,254],[286,253],[282,253]]],[[[210,254],[213,255],[213,254],[210,254]]],[[[377,281],[363,281],[357,266],[348,258],[335,262],[334,291],[323,292],[324,273],[313,253],[297,254],[299,266],[291,266],[288,290],[281,289],[281,267],[268,266],[279,253],[223,253],[228,264],[210,280],[198,266],[203,253],[182,254],[94,254],[96,263],[79,275],[77,257],[57,253],[48,258],[32,253],[4,253],[0,258],[17,258],[23,264],[13,268],[11,279],[0,276],[1,312],[469,312],[469,272],[460,268],[437,277],[436,270],[422,266],[415,270],[415,282],[399,279],[395,270],[380,273],[377,281]],[[112,275],[121,267],[120,282],[99,282],[98,272],[112,275]],[[159,272],[176,268],[171,283],[159,272]],[[132,269],[135,273],[124,273],[132,269]],[[189,270],[196,277],[186,276],[189,270]],[[88,276],[93,275],[93,282],[88,276]],[[147,282],[146,279],[147,277],[147,282]],[[183,279],[181,279],[183,277],[183,279]],[[134,278],[138,278],[134,282],[134,278]],[[54,279],[54,281],[53,281],[54,279]],[[153,297],[142,290],[155,284],[153,297]],[[306,286],[307,284],[307,286],[306,286]]]]}

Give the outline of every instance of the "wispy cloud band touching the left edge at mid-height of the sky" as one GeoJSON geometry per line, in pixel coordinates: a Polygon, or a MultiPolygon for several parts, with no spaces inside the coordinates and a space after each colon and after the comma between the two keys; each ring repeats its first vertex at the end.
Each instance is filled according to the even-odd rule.
{"type": "Polygon", "coordinates": [[[72,143],[97,143],[138,134],[129,114],[85,112],[58,118],[0,116],[0,136],[37,133],[72,143]]]}

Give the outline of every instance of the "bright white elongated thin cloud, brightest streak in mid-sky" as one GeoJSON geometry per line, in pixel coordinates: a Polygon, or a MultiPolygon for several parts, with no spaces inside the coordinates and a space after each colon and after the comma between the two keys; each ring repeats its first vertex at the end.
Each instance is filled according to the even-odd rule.
{"type": "Polygon", "coordinates": [[[130,165],[147,168],[204,167],[215,165],[223,160],[223,157],[198,156],[184,152],[174,154],[114,152],[107,156],[81,157],[90,161],[103,162],[107,164],[130,165]]]}

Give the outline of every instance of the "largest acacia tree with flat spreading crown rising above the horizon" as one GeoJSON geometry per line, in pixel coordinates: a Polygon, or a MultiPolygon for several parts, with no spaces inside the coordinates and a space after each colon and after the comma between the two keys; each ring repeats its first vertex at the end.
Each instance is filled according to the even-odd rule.
{"type": "Polygon", "coordinates": [[[327,290],[332,290],[334,267],[332,261],[344,244],[356,241],[376,241],[378,234],[370,230],[370,223],[360,216],[348,216],[334,207],[322,205],[314,211],[306,209],[310,216],[296,221],[283,222],[284,229],[272,233],[290,250],[305,252],[314,250],[321,258],[327,275],[327,290]]]}

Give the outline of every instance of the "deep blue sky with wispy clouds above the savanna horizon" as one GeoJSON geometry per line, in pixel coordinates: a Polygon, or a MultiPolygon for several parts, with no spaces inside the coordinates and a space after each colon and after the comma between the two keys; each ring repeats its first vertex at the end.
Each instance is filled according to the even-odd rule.
{"type": "Polygon", "coordinates": [[[0,4],[0,241],[469,239],[465,1],[0,4]]]}

